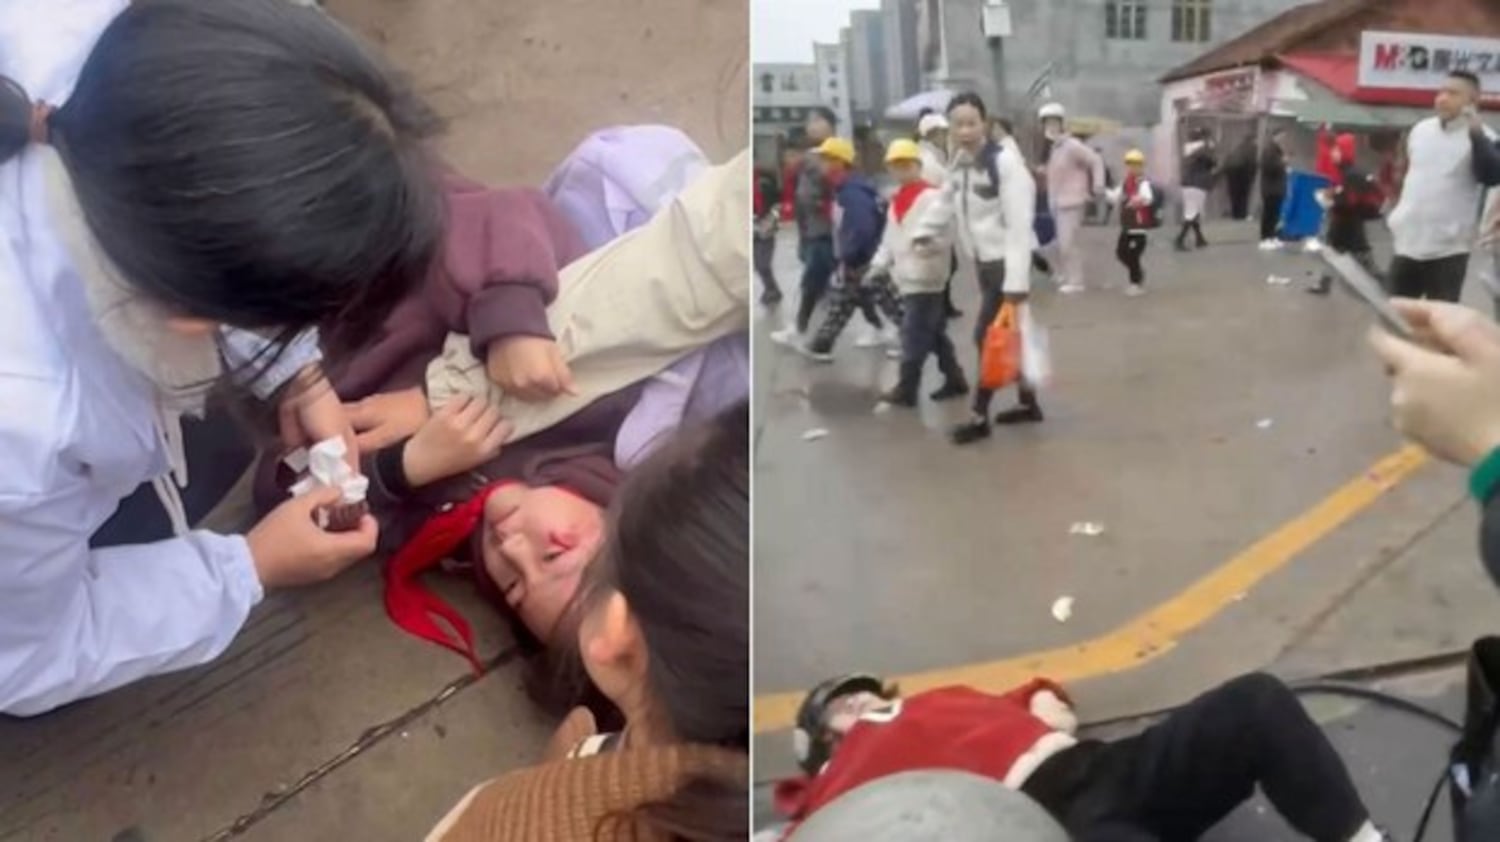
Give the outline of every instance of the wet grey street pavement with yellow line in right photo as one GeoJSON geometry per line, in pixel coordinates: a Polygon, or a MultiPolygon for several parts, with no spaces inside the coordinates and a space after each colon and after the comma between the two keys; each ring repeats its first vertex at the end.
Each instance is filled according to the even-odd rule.
{"type": "MultiPolygon", "coordinates": [[[[1474,558],[1462,476],[1425,462],[1389,471],[1401,443],[1364,345],[1370,314],[1264,284],[1269,272],[1314,270],[1312,258],[1262,255],[1245,227],[1209,234],[1214,246],[1186,255],[1156,234],[1143,299],[1119,288],[1064,299],[1036,279],[1056,359],[1048,420],[966,449],[942,434],[962,407],[872,413],[894,377],[876,354],[842,344],[831,366],[758,357],[756,686],[772,702],[758,716],[774,711],[758,722],[758,779],[790,768],[783,692],[832,672],[1004,687],[1029,663],[1095,663],[1074,689],[1098,722],[1180,704],[1250,669],[1306,677],[1422,657],[1492,627],[1500,597],[1474,558]],[[804,441],[812,428],[830,432],[804,441]],[[1368,494],[1346,516],[1318,515],[1360,485],[1368,494]],[[1310,533],[1310,518],[1326,522],[1310,533]],[[1082,522],[1102,534],[1071,534],[1082,522]],[[1155,617],[1298,528],[1284,563],[1161,651],[1052,657],[1155,617]],[[1076,600],[1068,623],[1050,614],[1059,596],[1076,600]]],[[[1090,279],[1118,287],[1113,231],[1086,239],[1090,279]]],[[[789,281],[794,251],[788,242],[778,257],[789,281]]],[[[972,288],[962,275],[970,312],[972,288]]],[[[969,329],[960,320],[952,335],[969,329]]],[[[972,371],[972,350],[964,363],[972,371]]],[[[1448,669],[1395,687],[1456,704],[1458,678],[1448,669]]],[[[1425,795],[1448,737],[1365,705],[1314,704],[1404,833],[1407,801],[1425,795]]],[[[1292,837],[1257,830],[1254,815],[1216,837],[1292,837]]]]}

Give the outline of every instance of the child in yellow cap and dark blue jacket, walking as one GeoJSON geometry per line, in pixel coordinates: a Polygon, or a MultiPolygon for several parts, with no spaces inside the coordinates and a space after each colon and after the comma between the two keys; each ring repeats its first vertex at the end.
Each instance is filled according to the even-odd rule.
{"type": "Polygon", "coordinates": [[[828,297],[822,327],[798,350],[818,362],[832,362],[834,342],[856,309],[870,314],[878,306],[886,318],[900,324],[902,302],[890,282],[870,273],[885,218],[874,185],[854,167],[854,144],[846,138],[828,138],[818,147],[818,162],[834,191],[834,251],[843,282],[828,297]]]}

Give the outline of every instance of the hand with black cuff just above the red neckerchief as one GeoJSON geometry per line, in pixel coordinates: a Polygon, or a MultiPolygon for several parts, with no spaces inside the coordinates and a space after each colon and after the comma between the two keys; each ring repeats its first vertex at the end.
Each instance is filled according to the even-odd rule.
{"type": "Polygon", "coordinates": [[[400,467],[412,488],[471,471],[500,455],[513,425],[483,398],[454,398],[406,443],[400,467]]]}

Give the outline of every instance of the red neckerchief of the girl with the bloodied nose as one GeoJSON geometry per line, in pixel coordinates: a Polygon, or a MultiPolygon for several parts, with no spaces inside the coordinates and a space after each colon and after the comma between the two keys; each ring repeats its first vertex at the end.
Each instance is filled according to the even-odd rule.
{"type": "Polygon", "coordinates": [[[507,485],[516,485],[516,480],[486,485],[466,503],[428,518],[386,561],[386,614],[408,633],[462,654],[476,674],[482,674],[484,666],[474,650],[474,630],[468,620],[428,590],[417,576],[436,567],[474,534],[474,528],[484,519],[489,495],[507,485]],[[446,621],[448,629],[440,626],[436,618],[446,621]]]}

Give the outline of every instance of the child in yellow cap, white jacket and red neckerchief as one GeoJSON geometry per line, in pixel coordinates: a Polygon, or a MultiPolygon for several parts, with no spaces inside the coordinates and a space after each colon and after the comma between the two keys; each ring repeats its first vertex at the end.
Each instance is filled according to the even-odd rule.
{"type": "Polygon", "coordinates": [[[891,141],[885,165],[902,186],[891,197],[870,272],[890,273],[902,293],[902,375],[880,399],[894,407],[915,407],[928,356],[938,357],[938,369],[944,375],[944,384],[932,393],[932,399],[962,398],[969,392],[969,383],[948,338],[944,302],[952,261],[951,227],[939,234],[922,228],[926,216],[940,213],[942,188],[927,182],[922,150],[909,140],[891,141]],[[915,236],[926,237],[921,246],[914,242],[915,236]]]}

